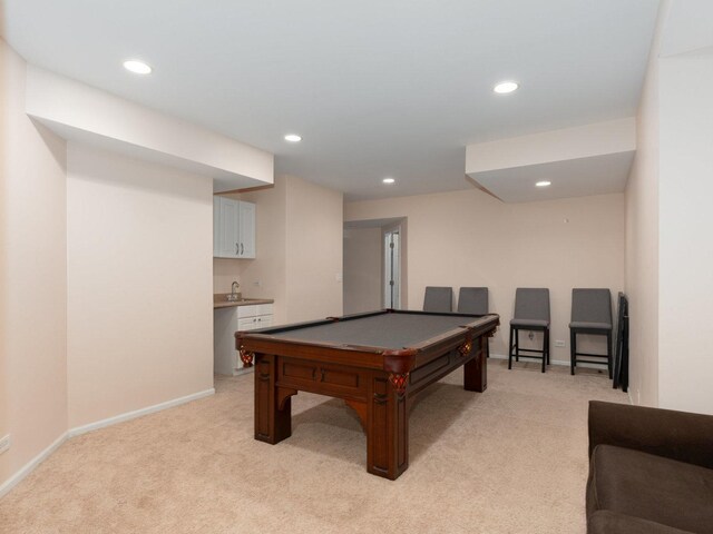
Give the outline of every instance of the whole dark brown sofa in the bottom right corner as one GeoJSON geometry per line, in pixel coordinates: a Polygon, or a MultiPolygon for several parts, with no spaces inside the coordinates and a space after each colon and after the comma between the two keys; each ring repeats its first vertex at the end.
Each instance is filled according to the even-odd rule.
{"type": "Polygon", "coordinates": [[[588,534],[713,534],[713,415],[589,402],[588,534]]]}

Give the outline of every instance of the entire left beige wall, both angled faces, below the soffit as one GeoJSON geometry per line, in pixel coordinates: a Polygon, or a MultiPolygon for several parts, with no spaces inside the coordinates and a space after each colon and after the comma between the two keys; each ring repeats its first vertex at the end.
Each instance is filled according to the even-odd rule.
{"type": "Polygon", "coordinates": [[[74,144],[68,164],[26,69],[0,40],[0,493],[70,427],[213,387],[212,180],[74,144]]]}

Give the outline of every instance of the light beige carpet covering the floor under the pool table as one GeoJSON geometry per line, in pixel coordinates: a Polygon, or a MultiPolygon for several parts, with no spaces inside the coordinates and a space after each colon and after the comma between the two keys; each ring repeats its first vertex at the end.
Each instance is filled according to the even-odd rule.
{"type": "Polygon", "coordinates": [[[0,501],[14,533],[580,533],[587,400],[626,403],[605,375],[489,360],[410,418],[410,466],[365,471],[365,436],[341,400],[293,397],[293,435],[253,439],[253,375],[216,395],[65,443],[0,501]]]}

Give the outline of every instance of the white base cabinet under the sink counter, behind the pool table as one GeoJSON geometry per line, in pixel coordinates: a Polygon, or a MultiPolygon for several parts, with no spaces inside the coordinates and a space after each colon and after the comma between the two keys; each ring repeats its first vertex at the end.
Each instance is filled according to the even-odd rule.
{"type": "Polygon", "coordinates": [[[265,328],[273,324],[272,304],[215,308],[213,312],[213,363],[218,375],[237,375],[243,362],[235,349],[235,332],[265,328]]]}

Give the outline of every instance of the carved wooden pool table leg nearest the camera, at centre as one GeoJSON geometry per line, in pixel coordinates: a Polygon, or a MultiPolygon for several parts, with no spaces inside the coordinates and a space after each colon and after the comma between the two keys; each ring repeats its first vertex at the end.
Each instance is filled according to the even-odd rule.
{"type": "Polygon", "coordinates": [[[367,471],[393,481],[409,467],[406,392],[398,392],[387,374],[378,374],[369,382],[367,471]]]}

